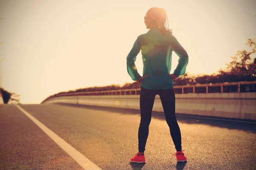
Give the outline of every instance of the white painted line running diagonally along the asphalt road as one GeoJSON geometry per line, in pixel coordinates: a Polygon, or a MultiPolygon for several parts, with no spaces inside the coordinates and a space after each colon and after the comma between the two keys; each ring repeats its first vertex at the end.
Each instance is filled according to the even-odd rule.
{"type": "Polygon", "coordinates": [[[101,170],[96,164],[93,164],[89,159],[87,159],[84,155],[82,155],[79,151],[77,151],[75,148],[73,148],[70,144],[68,144],[66,141],[61,139],[57,134],[52,132],[48,127],[46,127],[44,124],[38,121],[38,119],[35,119],[34,116],[29,114],[27,111],[25,111],[23,108],[21,108],[19,105],[16,105],[20,111],[22,111],[26,116],[29,117],[38,127],[41,128],[54,142],[56,142],[65,152],[67,152],[81,167],[84,168],[84,170],[101,170]]]}

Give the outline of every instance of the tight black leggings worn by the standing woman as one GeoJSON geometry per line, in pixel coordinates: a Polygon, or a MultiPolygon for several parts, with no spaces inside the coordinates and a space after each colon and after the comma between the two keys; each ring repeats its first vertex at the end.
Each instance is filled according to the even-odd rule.
{"type": "Polygon", "coordinates": [[[151,122],[151,113],[155,96],[158,94],[163,105],[166,122],[170,128],[172,140],[177,151],[181,151],[180,127],[175,116],[175,93],[173,88],[167,90],[151,90],[140,88],[140,127],[138,132],[139,152],[145,151],[148,139],[148,127],[151,122]]]}

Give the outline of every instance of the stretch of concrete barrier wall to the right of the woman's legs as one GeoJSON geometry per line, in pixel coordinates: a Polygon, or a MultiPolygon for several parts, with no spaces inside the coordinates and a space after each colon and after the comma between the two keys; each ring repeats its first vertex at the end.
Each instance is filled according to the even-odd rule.
{"type": "Polygon", "coordinates": [[[255,93],[192,94],[177,103],[177,113],[256,120],[255,93]]]}

